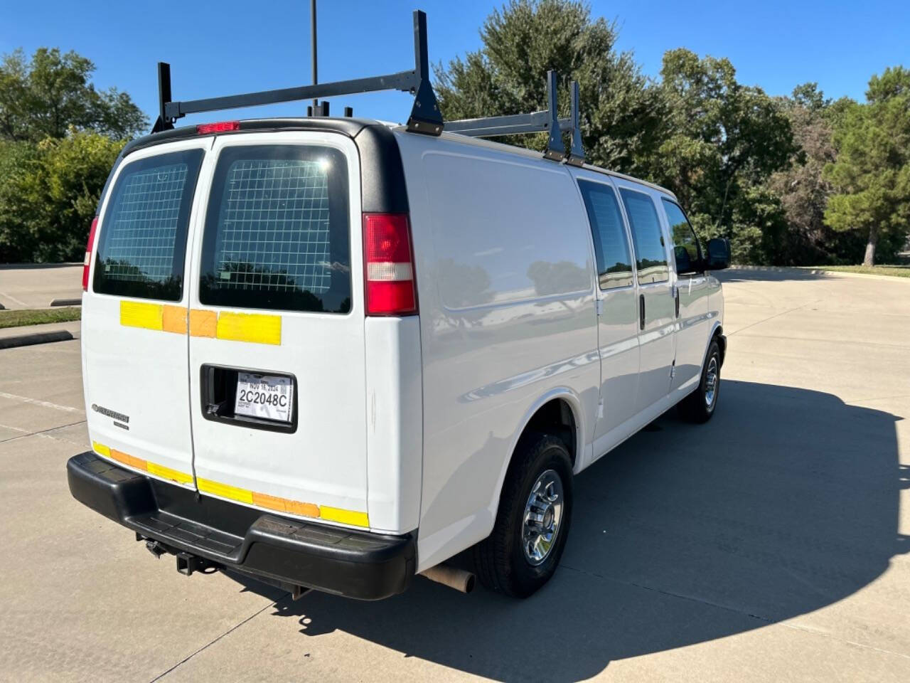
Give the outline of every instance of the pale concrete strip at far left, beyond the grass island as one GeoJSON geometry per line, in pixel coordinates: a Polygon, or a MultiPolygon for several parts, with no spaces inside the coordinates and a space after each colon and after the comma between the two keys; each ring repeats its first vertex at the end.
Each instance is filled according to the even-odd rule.
{"type": "Polygon", "coordinates": [[[54,299],[81,298],[81,263],[0,265],[0,303],[4,308],[43,309],[54,299]]]}

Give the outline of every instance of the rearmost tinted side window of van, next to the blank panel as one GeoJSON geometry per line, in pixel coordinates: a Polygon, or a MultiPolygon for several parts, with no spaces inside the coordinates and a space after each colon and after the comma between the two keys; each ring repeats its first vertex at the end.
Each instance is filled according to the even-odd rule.
{"type": "Polygon", "coordinates": [[[632,257],[616,193],[607,185],[587,180],[579,180],[578,187],[588,209],[601,289],[631,286],[632,257]]]}

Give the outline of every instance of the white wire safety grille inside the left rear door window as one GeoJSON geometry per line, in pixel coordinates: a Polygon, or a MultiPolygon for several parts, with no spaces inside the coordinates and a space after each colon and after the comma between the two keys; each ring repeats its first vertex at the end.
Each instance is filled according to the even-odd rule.
{"type": "Polygon", "coordinates": [[[164,282],[173,275],[174,246],[187,165],[136,171],[116,199],[105,253],[108,280],[164,282]]]}

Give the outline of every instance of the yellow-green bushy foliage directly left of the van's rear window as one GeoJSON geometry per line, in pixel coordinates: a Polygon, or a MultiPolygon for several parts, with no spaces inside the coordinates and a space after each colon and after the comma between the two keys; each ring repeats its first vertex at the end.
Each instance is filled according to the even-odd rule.
{"type": "Polygon", "coordinates": [[[124,142],[71,130],[0,141],[0,261],[82,260],[101,189],[124,142]]]}

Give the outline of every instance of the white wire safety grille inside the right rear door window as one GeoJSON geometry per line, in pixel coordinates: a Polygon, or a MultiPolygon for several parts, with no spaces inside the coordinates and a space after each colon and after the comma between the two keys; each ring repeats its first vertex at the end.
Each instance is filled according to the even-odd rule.
{"type": "Polygon", "coordinates": [[[323,293],[329,184],[319,161],[244,159],[227,170],[213,289],[323,293]]]}

